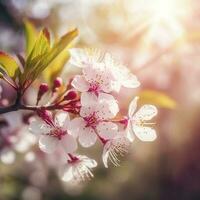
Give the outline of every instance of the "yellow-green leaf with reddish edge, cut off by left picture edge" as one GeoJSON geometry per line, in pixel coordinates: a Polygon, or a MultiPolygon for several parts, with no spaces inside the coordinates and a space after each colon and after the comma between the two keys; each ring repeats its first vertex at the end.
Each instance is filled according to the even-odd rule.
{"type": "Polygon", "coordinates": [[[2,51],[0,51],[0,68],[12,79],[16,77],[19,70],[15,59],[2,51]]]}

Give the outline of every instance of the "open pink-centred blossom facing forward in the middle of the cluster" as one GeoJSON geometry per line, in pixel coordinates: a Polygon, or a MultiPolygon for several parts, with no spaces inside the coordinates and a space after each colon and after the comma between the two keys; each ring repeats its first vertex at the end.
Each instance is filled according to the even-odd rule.
{"type": "Polygon", "coordinates": [[[81,117],[72,120],[71,130],[75,137],[78,136],[83,147],[90,147],[95,144],[98,135],[108,139],[116,134],[117,125],[108,120],[116,116],[119,108],[111,95],[85,95],[80,110],[81,117]]]}

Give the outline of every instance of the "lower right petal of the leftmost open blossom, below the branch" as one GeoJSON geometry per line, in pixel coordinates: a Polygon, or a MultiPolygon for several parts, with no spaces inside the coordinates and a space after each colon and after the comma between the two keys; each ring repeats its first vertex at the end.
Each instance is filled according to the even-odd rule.
{"type": "Polygon", "coordinates": [[[66,153],[73,153],[77,149],[77,143],[72,135],[66,134],[61,139],[61,144],[66,153]]]}

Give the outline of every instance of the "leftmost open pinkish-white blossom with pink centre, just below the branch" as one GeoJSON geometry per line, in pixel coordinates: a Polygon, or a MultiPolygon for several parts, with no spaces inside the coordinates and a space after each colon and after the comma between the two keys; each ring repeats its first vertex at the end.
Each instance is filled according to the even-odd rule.
{"type": "Polygon", "coordinates": [[[77,143],[71,132],[68,132],[69,127],[69,115],[61,111],[52,119],[52,125],[37,119],[31,122],[29,130],[39,135],[39,147],[45,153],[53,153],[57,148],[72,153],[77,149],[77,143]]]}

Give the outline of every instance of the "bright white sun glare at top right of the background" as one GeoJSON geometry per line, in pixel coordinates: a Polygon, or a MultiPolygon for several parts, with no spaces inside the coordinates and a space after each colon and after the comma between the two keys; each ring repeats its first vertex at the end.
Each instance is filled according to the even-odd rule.
{"type": "Polygon", "coordinates": [[[189,0],[127,1],[127,6],[129,6],[127,9],[131,18],[142,14],[141,23],[146,23],[142,20],[144,16],[148,20],[148,32],[144,43],[147,44],[153,40],[161,46],[165,46],[165,43],[170,44],[183,36],[184,19],[190,12],[188,5],[189,0]]]}

